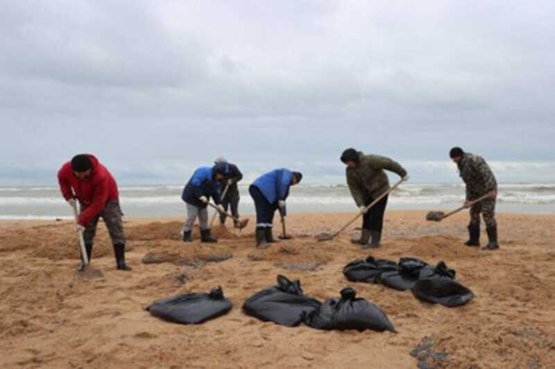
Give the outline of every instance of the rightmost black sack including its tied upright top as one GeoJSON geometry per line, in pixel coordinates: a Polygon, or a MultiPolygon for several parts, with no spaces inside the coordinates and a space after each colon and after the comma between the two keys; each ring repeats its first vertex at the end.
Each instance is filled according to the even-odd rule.
{"type": "Polygon", "coordinates": [[[459,307],[474,298],[474,293],[459,282],[454,281],[455,271],[447,268],[443,261],[435,268],[426,267],[420,271],[420,280],[411,289],[418,300],[442,304],[445,307],[459,307]]]}

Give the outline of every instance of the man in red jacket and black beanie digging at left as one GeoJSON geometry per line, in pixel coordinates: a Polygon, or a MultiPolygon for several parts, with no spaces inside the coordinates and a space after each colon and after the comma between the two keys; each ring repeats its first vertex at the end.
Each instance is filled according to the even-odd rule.
{"type": "MultiPolygon", "coordinates": [[[[62,196],[70,206],[79,201],[78,230],[83,230],[85,249],[89,260],[96,234],[96,225],[102,217],[114,244],[116,265],[120,271],[130,271],[126,264],[126,238],[123,234],[121,207],[117,183],[108,169],[94,155],[76,155],[58,171],[62,196]]],[[[82,266],[81,266],[82,267],[82,266]]]]}

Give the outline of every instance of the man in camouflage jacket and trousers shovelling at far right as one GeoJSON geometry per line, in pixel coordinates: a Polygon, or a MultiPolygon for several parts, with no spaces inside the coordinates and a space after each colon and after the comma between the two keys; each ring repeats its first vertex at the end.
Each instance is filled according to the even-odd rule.
{"type": "Polygon", "coordinates": [[[459,168],[461,178],[466,184],[465,207],[470,206],[472,200],[490,194],[489,198],[470,206],[470,224],[468,233],[470,238],[467,246],[480,246],[480,213],[486,223],[489,243],[485,248],[495,250],[497,243],[497,222],[495,221],[495,200],[497,198],[497,181],[495,175],[483,157],[465,153],[462,148],[451,149],[450,157],[459,168]]]}

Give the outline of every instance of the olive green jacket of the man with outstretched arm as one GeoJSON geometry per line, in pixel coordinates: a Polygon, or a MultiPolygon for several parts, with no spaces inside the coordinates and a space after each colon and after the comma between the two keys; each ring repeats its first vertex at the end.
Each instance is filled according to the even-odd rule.
{"type": "Polygon", "coordinates": [[[379,155],[364,155],[359,152],[360,164],[356,168],[347,168],[347,184],[352,198],[357,205],[367,205],[389,189],[389,180],[384,171],[392,171],[401,177],[407,175],[407,171],[394,160],[379,155]]]}

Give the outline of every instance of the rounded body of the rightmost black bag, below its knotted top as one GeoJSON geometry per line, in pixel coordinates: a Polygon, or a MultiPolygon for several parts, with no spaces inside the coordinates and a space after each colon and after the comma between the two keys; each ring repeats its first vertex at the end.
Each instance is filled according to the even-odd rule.
{"type": "Polygon", "coordinates": [[[446,307],[458,307],[474,298],[474,293],[466,286],[452,280],[451,277],[441,275],[419,280],[411,292],[418,300],[446,307]]]}

